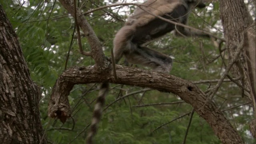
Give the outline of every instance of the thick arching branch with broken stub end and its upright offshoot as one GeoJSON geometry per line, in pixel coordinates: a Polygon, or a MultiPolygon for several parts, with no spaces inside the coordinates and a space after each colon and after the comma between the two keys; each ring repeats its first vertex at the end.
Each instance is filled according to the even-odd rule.
{"type": "MultiPolygon", "coordinates": [[[[74,16],[73,0],[59,1],[68,10],[68,12],[74,16]]],[[[90,38],[90,41],[92,42],[100,43],[95,38],[96,36],[92,31],[92,28],[90,28],[90,25],[82,16],[82,12],[80,12],[78,8],[76,8],[76,10],[77,22],[86,34],[87,38],[90,38]]],[[[102,52],[102,48],[100,46],[95,46],[95,43],[91,50],[93,58],[101,56],[94,55],[96,54],[95,51],[100,53],[102,52]]],[[[210,124],[213,131],[220,138],[223,144],[244,143],[238,132],[232,127],[222,112],[216,108],[212,100],[207,98],[204,92],[194,84],[168,74],[118,65],[116,66],[116,75],[118,80],[114,80],[112,68],[109,62],[104,60],[104,58],[102,59],[103,63],[100,62],[100,58],[96,58],[94,60],[96,63],[94,67],[73,67],[61,74],[52,90],[48,106],[48,116],[52,118],[60,118],[62,121],[65,121],[66,118],[71,116],[68,94],[74,84],[110,82],[116,84],[136,85],[177,94],[182,100],[191,104],[194,110],[210,124]],[[102,65],[104,69],[99,70],[99,68],[97,68],[98,65],[102,65]]]]}

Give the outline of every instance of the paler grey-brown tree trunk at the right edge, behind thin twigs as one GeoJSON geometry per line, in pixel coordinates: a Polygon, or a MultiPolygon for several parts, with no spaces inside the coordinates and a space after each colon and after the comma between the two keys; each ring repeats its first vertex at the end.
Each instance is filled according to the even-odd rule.
{"type": "Polygon", "coordinates": [[[254,126],[251,126],[253,127],[251,132],[256,138],[255,22],[252,24],[253,20],[248,13],[244,0],[220,0],[220,18],[224,28],[224,36],[230,59],[234,57],[237,48],[236,44],[241,41],[244,43],[244,49],[234,65],[232,72],[236,76],[241,76],[241,83],[250,90],[247,95],[252,100],[254,106],[254,122],[251,122],[254,126]]]}

